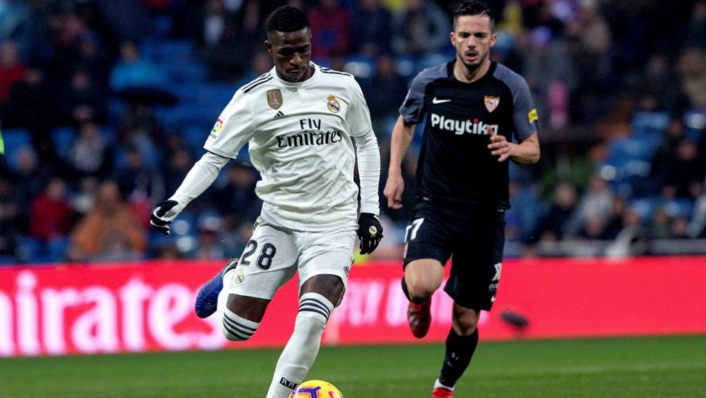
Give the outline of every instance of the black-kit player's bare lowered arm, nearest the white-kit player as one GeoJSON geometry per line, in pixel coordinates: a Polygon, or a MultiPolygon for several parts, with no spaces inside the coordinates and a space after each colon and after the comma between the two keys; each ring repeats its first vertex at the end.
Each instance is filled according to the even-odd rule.
{"type": "Polygon", "coordinates": [[[414,124],[408,124],[402,116],[398,117],[390,140],[390,168],[388,182],[385,183],[383,191],[388,198],[390,209],[402,208],[402,192],[405,191],[405,181],[402,180],[402,159],[405,158],[413,137],[414,124]]]}

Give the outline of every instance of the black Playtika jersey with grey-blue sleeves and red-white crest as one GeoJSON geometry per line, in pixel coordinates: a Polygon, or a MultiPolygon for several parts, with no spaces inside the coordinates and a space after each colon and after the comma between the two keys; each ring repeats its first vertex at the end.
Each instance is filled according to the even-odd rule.
{"type": "Polygon", "coordinates": [[[426,117],[417,200],[461,213],[474,205],[509,209],[509,162],[491,155],[489,134],[522,141],[537,131],[530,88],[522,76],[497,62],[472,83],[458,81],[453,64],[421,71],[400,107],[409,124],[426,117]]]}

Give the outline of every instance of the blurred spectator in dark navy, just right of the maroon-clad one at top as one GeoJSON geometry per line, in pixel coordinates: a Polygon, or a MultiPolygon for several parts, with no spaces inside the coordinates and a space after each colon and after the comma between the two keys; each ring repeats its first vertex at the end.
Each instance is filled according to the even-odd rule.
{"type": "Polygon", "coordinates": [[[351,40],[353,52],[368,57],[392,52],[392,14],[379,0],[361,0],[353,13],[351,40]]]}

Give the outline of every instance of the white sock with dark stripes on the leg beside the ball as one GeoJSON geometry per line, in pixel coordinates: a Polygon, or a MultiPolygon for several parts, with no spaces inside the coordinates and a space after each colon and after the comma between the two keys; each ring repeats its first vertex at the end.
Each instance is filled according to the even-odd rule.
{"type": "Polygon", "coordinates": [[[321,334],[333,303],[318,293],[304,293],[299,298],[299,312],[294,332],[280,354],[268,398],[287,398],[309,372],[321,346],[321,334]]]}

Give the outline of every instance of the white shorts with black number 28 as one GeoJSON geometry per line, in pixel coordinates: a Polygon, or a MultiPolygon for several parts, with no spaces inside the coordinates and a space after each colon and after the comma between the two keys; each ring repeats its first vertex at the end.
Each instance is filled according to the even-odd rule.
{"type": "Polygon", "coordinates": [[[238,267],[228,273],[230,281],[224,280],[223,290],[227,294],[271,300],[296,271],[299,271],[299,288],[311,276],[321,274],[337,275],[345,286],[353,265],[355,239],[355,230],[348,228],[303,232],[260,224],[238,267]]]}

